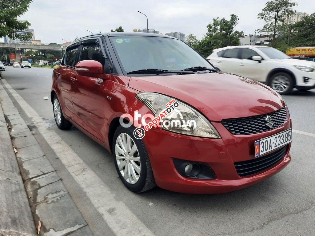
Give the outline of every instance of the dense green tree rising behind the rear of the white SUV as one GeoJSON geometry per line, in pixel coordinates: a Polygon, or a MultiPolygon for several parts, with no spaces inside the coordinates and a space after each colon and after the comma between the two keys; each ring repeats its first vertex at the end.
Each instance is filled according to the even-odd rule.
{"type": "Polygon", "coordinates": [[[214,18],[213,23],[207,25],[208,32],[202,40],[194,45],[194,48],[207,57],[215,48],[240,45],[239,37],[244,35],[244,31],[235,31],[234,27],[238,23],[238,16],[231,14],[230,20],[224,17],[214,18]]]}

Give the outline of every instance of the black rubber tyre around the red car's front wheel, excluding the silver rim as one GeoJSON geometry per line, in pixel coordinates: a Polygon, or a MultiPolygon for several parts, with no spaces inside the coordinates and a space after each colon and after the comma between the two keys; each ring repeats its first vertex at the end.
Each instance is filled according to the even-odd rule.
{"type": "MultiPolygon", "coordinates": [[[[156,183],[155,183],[155,180],[154,180],[152,167],[151,167],[151,163],[150,163],[150,160],[149,160],[148,153],[146,151],[146,147],[145,147],[145,145],[144,145],[142,140],[136,139],[134,137],[134,135],[133,135],[134,129],[135,128],[133,126],[128,127],[128,128],[124,128],[123,126],[118,126],[118,128],[116,129],[116,131],[114,133],[114,137],[113,137],[112,153],[113,153],[113,159],[114,159],[114,163],[115,163],[115,167],[116,167],[117,173],[119,175],[119,178],[123,182],[123,184],[129,190],[131,190],[132,192],[141,193],[141,192],[148,191],[151,188],[154,188],[156,186],[156,183]],[[140,157],[141,171],[140,171],[140,177],[139,177],[138,181],[136,183],[134,183],[134,184],[128,183],[124,179],[124,177],[122,176],[122,174],[120,173],[119,168],[118,168],[115,150],[116,150],[117,137],[121,133],[128,134],[132,138],[132,141],[135,143],[135,145],[136,145],[136,147],[138,149],[138,153],[139,153],[139,157],[140,157]]],[[[125,168],[126,167],[127,166],[125,166],[125,168]]]]}

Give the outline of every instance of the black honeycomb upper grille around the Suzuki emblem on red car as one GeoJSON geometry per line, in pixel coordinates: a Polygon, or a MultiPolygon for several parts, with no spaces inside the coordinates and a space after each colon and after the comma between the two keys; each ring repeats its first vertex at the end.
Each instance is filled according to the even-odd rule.
{"type": "Polygon", "coordinates": [[[260,133],[267,130],[277,128],[284,124],[287,120],[287,110],[285,107],[282,109],[272,112],[266,115],[258,115],[247,118],[237,118],[230,120],[222,120],[222,124],[232,133],[232,134],[253,134],[260,133]],[[267,115],[271,118],[273,122],[270,128],[266,121],[267,115]]]}

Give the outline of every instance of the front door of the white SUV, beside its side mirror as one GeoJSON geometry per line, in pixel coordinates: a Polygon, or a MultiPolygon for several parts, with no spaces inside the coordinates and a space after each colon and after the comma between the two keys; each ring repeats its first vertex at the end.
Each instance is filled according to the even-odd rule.
{"type": "Polygon", "coordinates": [[[241,56],[238,63],[241,74],[239,75],[257,81],[264,81],[263,77],[266,74],[265,61],[254,61],[252,60],[253,56],[261,55],[251,48],[241,48],[241,56]]]}

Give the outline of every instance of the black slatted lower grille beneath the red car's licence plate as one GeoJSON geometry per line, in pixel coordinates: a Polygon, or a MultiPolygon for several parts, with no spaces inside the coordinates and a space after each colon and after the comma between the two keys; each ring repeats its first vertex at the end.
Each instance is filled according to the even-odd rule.
{"type": "Polygon", "coordinates": [[[258,157],[252,160],[234,162],[236,172],[239,176],[248,176],[264,171],[282,160],[285,153],[287,152],[287,149],[288,145],[280,148],[272,154],[268,154],[263,157],[258,157]]]}

